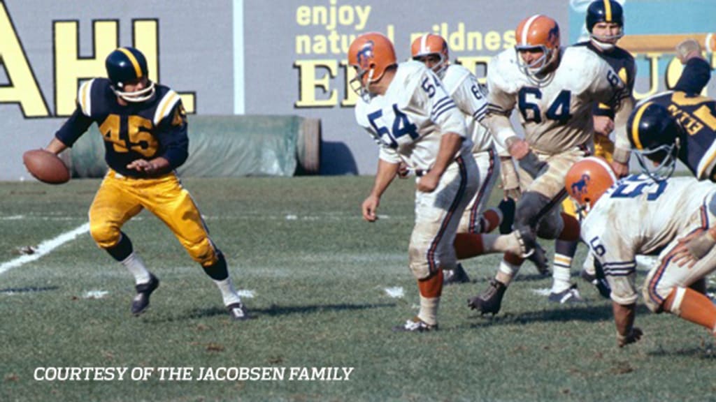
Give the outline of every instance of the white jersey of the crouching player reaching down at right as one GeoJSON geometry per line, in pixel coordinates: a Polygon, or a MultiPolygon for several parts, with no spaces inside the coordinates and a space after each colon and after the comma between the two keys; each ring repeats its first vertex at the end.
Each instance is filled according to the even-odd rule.
{"type": "Polygon", "coordinates": [[[659,253],[692,225],[716,185],[693,177],[654,182],[632,175],[602,195],[581,223],[581,237],[599,260],[620,304],[637,300],[636,256],[659,253]]]}

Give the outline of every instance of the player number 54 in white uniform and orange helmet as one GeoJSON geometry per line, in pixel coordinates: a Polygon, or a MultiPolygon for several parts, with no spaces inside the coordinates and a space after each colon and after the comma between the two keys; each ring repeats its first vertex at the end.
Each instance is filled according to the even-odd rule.
{"type": "MultiPolygon", "coordinates": [[[[478,191],[478,167],[465,117],[445,92],[440,78],[424,64],[397,63],[392,42],[368,32],[349,46],[348,63],[356,75],[358,124],[379,144],[374,185],[362,203],[364,220],[375,222],[387,187],[403,162],[415,172],[415,226],[408,260],[417,279],[420,311],[398,331],[437,329],[443,269],[455,269],[455,232],[465,207],[478,191]]],[[[504,235],[521,253],[516,236],[504,235]]]]}

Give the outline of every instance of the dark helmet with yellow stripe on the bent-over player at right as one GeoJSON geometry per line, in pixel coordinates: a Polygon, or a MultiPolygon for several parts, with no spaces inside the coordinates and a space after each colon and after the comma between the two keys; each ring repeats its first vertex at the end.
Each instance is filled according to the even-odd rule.
{"type": "Polygon", "coordinates": [[[681,132],[677,119],[661,104],[646,102],[632,111],[627,137],[644,174],[661,181],[674,173],[681,132]]]}

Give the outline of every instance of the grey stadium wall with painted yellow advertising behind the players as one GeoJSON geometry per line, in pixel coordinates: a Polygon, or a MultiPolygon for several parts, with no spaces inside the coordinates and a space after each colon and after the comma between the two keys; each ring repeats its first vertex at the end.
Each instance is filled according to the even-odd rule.
{"type": "MultiPolygon", "coordinates": [[[[621,2],[628,34],[622,41],[637,56],[638,97],[667,89],[678,78],[674,41],[695,36],[713,43],[716,1],[621,2]]],[[[321,174],[372,174],[377,147],[354,122],[356,95],[347,85],[352,71],[346,51],[355,35],[383,32],[395,41],[399,59],[407,59],[412,38],[442,34],[451,58],[484,79],[488,60],[513,46],[513,29],[524,16],[543,13],[557,19],[567,44],[584,35],[587,4],[0,1],[0,180],[29,179],[22,152],[47,144],[72,113],[79,84],[103,76],[105,56],[117,46],[141,49],[151,78],[179,92],[195,117],[284,115],[319,122],[321,174]]],[[[712,52],[707,57],[716,65],[712,52]]],[[[716,94],[713,83],[705,94],[716,94]]],[[[199,141],[191,137],[192,117],[190,138],[199,141]]]]}

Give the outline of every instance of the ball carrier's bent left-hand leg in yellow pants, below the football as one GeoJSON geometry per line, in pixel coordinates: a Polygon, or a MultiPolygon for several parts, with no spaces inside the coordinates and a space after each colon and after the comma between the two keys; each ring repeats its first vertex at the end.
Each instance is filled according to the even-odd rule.
{"type": "Polygon", "coordinates": [[[149,306],[149,297],[158,288],[159,280],[147,270],[144,262],[134,251],[132,240],[122,225],[141,210],[133,192],[135,180],[115,177],[110,170],[97,190],[95,200],[89,207],[89,233],[103,250],[121,263],[135,278],[137,295],[132,300],[132,313],[140,314],[149,306]]]}

